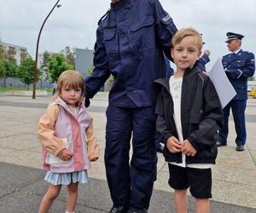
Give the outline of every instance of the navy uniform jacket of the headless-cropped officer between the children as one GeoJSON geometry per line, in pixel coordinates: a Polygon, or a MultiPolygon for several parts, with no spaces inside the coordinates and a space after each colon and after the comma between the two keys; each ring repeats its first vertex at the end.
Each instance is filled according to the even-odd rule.
{"type": "Polygon", "coordinates": [[[170,55],[177,32],[159,0],[122,0],[112,3],[96,31],[95,69],[85,79],[92,98],[113,75],[109,104],[117,107],[154,106],[153,82],[166,76],[163,51],[170,55]]]}

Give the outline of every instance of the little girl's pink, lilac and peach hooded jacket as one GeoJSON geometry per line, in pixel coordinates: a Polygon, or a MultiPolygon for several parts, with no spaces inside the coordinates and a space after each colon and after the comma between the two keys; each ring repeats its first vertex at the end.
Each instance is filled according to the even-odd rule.
{"type": "Polygon", "coordinates": [[[58,97],[40,118],[38,139],[42,143],[44,170],[60,173],[87,170],[90,159],[99,157],[92,118],[85,112],[84,103],[76,117],[66,102],[58,97]],[[56,157],[64,148],[73,153],[73,158],[68,161],[56,157]]]}

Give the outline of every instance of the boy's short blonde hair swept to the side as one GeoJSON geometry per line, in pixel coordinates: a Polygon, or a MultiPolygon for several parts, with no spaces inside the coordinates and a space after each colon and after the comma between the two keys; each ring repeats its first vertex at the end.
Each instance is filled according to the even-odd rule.
{"type": "Polygon", "coordinates": [[[181,43],[184,37],[195,37],[195,43],[198,45],[199,50],[202,48],[201,34],[192,27],[182,28],[175,33],[172,37],[172,48],[178,43],[181,43]]]}

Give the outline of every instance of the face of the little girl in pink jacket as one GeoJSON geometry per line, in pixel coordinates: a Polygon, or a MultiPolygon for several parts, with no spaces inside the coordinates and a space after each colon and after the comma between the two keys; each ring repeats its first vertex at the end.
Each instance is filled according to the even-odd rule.
{"type": "Polygon", "coordinates": [[[76,104],[80,101],[82,95],[82,89],[71,89],[71,88],[62,88],[61,89],[61,98],[67,102],[68,105],[76,107],[76,104]]]}

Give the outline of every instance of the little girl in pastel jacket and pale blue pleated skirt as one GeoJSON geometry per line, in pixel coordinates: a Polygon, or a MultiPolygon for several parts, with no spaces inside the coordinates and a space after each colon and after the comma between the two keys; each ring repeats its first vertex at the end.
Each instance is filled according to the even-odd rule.
{"type": "Polygon", "coordinates": [[[88,181],[90,161],[99,157],[93,134],[92,118],[84,108],[84,79],[79,72],[62,72],[48,109],[38,124],[38,139],[42,143],[43,169],[48,191],[39,213],[48,212],[62,185],[67,185],[67,210],[74,212],[79,182],[88,181]]]}

